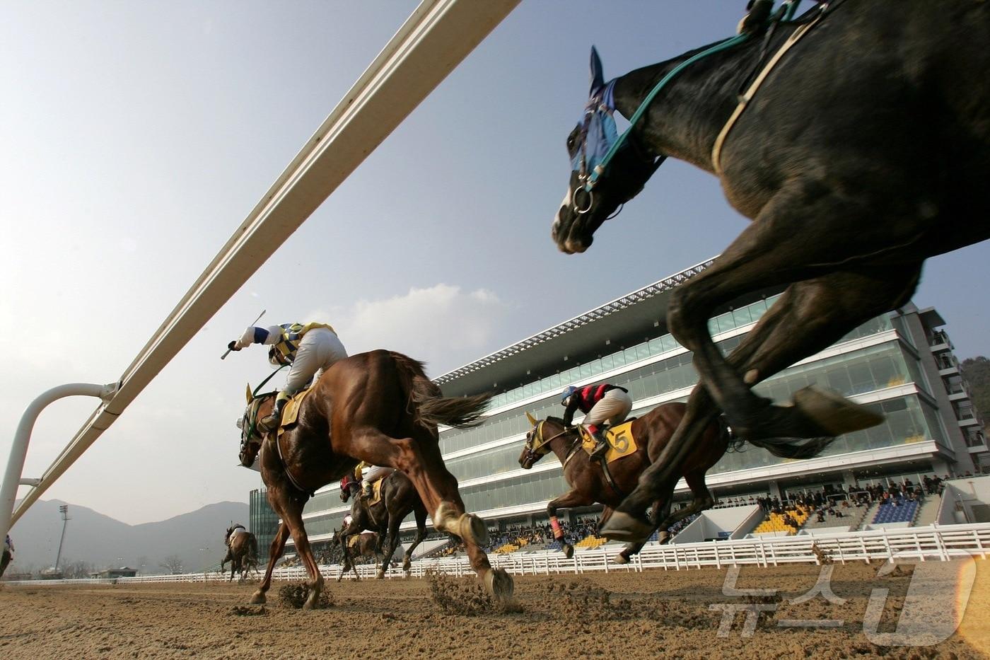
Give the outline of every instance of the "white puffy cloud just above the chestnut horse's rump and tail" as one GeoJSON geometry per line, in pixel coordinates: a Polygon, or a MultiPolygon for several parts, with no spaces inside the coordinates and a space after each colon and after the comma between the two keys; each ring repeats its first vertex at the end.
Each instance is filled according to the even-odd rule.
{"type": "Polygon", "coordinates": [[[490,290],[439,283],[382,300],[358,300],[333,314],[314,311],[306,318],[327,319],[351,355],[387,348],[426,362],[427,373],[439,376],[495,350],[509,310],[490,290]]]}

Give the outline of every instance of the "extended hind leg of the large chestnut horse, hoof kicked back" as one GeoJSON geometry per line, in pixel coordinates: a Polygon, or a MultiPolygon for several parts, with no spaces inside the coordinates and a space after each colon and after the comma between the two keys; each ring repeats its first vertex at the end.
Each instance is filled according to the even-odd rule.
{"type": "Polygon", "coordinates": [[[481,549],[488,542],[488,528],[484,520],[464,512],[457,480],[444,466],[436,437],[417,442],[412,438],[392,438],[373,427],[364,427],[354,430],[351,444],[354,458],[404,472],[428,510],[434,511],[434,526],[464,541],[471,568],[488,592],[503,601],[512,597],[512,578],[504,569],[492,569],[481,549]]]}

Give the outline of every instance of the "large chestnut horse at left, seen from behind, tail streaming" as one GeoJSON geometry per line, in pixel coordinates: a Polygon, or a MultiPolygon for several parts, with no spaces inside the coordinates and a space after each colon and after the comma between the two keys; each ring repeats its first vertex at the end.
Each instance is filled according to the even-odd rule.
{"type": "Polygon", "coordinates": [[[255,428],[258,416],[271,409],[273,393],[250,401],[242,420],[241,463],[252,465],[260,453],[268,501],[281,518],[264,579],[251,603],[265,602],[271,571],[291,534],[310,578],[305,606],[316,605],[323,576],[303,527],[303,505],[317,489],[352,472],[358,461],[404,472],[432,512],[434,527],[463,539],[471,568],[489,593],[509,599],[512,578],[492,569],[481,549],[488,542],[488,529],[481,518],[464,512],[457,480],[444,466],[437,432],[442,423],[476,423],[488,398],[441,396],[422,363],[392,351],[371,351],[328,369],[304,399],[297,421],[277,439],[269,433],[262,442],[255,428]]]}

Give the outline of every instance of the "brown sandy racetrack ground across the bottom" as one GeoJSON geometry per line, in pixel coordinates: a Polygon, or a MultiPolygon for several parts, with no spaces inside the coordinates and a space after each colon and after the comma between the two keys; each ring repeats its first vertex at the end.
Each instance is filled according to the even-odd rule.
{"type": "Polygon", "coordinates": [[[729,575],[729,596],[727,569],[517,577],[508,608],[453,578],[328,583],[333,604],[318,610],[280,598],[284,583],[274,583],[263,607],[247,606],[250,583],[7,585],[0,658],[990,657],[990,563],[953,563],[960,584],[974,580],[964,609],[953,605],[960,590],[944,570],[933,582],[929,566],[881,577],[879,568],[833,565],[832,591],[803,603],[792,601],[821,584],[821,567],[743,567],[735,580],[729,575]],[[778,591],[738,595],[733,586],[778,591]],[[888,590],[886,600],[874,590],[888,590]],[[871,594],[882,606],[876,634],[886,633],[885,643],[928,645],[870,641],[863,620],[871,594]],[[755,627],[747,633],[745,611],[727,617],[730,627],[727,607],[752,609],[755,627]]]}

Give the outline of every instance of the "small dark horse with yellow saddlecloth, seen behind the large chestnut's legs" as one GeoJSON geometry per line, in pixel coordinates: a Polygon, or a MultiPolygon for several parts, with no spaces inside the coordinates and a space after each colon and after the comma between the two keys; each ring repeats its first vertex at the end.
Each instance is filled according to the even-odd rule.
{"type": "MultiPolygon", "coordinates": [[[[347,501],[354,497],[350,505],[350,524],[341,531],[344,542],[341,548],[344,550],[344,558],[347,561],[347,537],[359,534],[362,530],[377,532],[378,551],[386,557],[395,554],[395,548],[399,545],[399,525],[406,519],[412,511],[416,515],[416,538],[412,545],[406,549],[406,555],[402,560],[402,570],[408,575],[412,569],[411,562],[413,550],[416,549],[427,534],[427,508],[420,499],[420,494],[416,492],[413,483],[404,474],[395,470],[390,475],[382,478],[381,491],[378,501],[368,506],[366,500],[355,495],[360,491],[360,482],[348,480],[344,488],[341,489],[341,499],[347,501]]],[[[385,577],[386,565],[382,562],[378,569],[378,578],[385,577]]],[[[340,581],[340,577],[338,578],[340,581]]]]}

